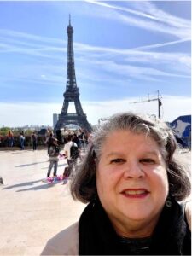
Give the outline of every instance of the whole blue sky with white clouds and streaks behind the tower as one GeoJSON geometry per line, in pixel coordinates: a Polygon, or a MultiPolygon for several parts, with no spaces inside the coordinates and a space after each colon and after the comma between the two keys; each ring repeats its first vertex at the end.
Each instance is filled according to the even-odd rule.
{"type": "MultiPolygon", "coordinates": [[[[189,1],[0,1],[0,126],[52,125],[67,76],[72,15],[75,71],[88,120],[126,110],[191,113],[189,1]]],[[[69,112],[74,113],[73,104],[69,112]]]]}

